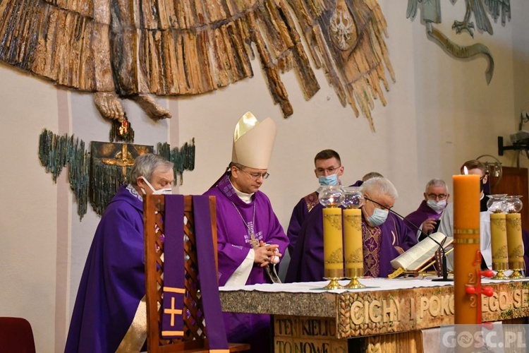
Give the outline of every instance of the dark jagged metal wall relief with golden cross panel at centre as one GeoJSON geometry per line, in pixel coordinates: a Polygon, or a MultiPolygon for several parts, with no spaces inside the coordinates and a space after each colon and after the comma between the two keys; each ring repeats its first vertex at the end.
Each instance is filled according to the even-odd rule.
{"type": "MultiPolygon", "coordinates": [[[[102,215],[119,186],[129,182],[128,172],[136,157],[153,153],[151,145],[92,141],[90,152],[85,142],[74,136],[56,135],[44,129],[39,137],[39,160],[56,182],[64,167],[68,166],[68,182],[75,196],[80,219],[87,213],[87,205],[102,215]]],[[[184,170],[195,169],[195,139],[173,148],[158,143],[158,155],[174,162],[174,172],[180,185],[184,170]]],[[[175,179],[175,183],[176,180],[175,179]]]]}

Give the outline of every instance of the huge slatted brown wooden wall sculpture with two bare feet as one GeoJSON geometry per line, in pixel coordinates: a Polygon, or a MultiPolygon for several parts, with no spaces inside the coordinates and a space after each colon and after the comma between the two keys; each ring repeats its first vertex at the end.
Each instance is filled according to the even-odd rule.
{"type": "Polygon", "coordinates": [[[377,0],[0,0],[0,60],[94,92],[102,116],[117,121],[126,119],[123,99],[170,118],[156,95],[201,95],[253,77],[257,55],[284,117],[293,107],[280,74],[296,71],[309,100],[322,68],[341,104],[374,131],[374,100],[386,104],[387,72],[395,80],[384,37],[377,0]]]}

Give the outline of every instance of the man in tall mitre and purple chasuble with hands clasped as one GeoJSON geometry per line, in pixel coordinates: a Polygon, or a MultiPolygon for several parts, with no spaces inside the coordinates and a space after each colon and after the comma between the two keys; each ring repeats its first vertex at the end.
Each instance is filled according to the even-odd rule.
{"type": "MultiPolygon", "coordinates": [[[[269,198],[259,191],[269,176],[276,135],[274,121],[248,112],[238,121],[231,163],[205,195],[217,200],[219,285],[270,283],[267,268],[281,260],[288,238],[269,198]]],[[[257,303],[256,303],[257,305],[257,303]]],[[[270,317],[224,313],[229,342],[250,343],[252,352],[272,352],[270,317]]]]}

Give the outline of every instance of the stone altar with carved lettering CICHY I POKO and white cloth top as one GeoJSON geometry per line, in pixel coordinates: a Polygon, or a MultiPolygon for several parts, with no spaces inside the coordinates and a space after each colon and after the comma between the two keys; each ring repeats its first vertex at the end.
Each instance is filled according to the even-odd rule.
{"type": "MultiPolygon", "coordinates": [[[[361,282],[365,288],[350,290],[323,290],[327,282],[221,287],[220,297],[223,311],[272,315],[274,352],[351,352],[359,345],[370,352],[423,352],[440,345],[438,330],[429,329],[454,324],[453,282],[361,282]]],[[[492,297],[482,296],[484,323],[525,323],[529,278],[482,279],[482,285],[494,289],[492,297]]]]}

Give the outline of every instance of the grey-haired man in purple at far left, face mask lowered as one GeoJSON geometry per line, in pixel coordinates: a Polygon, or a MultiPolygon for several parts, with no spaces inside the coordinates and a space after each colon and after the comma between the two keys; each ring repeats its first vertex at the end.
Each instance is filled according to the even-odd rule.
{"type": "Polygon", "coordinates": [[[143,197],[171,193],[173,163],[136,158],[104,210],[83,270],[64,352],[140,352],[147,337],[143,197]]]}

